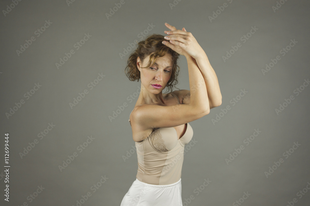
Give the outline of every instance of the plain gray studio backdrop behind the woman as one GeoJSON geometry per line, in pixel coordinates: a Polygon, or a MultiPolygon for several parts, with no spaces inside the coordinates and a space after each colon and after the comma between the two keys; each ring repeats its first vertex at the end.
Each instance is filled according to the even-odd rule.
{"type": "MultiPolygon", "coordinates": [[[[309,204],[309,1],[6,0],[0,8],[1,205],[120,205],[138,168],[128,119],[141,83],[124,69],[135,40],[165,35],[165,22],[192,32],[223,96],[191,122],[183,205],[309,204]]],[[[189,90],[184,56],[179,66],[177,87],[189,90]]]]}

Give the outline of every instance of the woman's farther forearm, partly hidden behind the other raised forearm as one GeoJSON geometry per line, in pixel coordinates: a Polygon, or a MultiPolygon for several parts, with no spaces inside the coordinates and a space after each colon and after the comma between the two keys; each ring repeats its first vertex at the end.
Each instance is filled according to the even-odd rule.
{"type": "Polygon", "coordinates": [[[203,52],[201,57],[196,58],[196,62],[206,84],[210,106],[213,108],[221,105],[222,94],[219,88],[219,81],[207,55],[203,52]]]}

